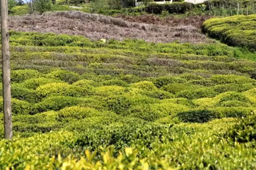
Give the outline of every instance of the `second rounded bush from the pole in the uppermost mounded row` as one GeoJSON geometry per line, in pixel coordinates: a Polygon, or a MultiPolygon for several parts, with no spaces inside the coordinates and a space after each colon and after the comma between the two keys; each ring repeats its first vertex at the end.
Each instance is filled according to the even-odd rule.
{"type": "Polygon", "coordinates": [[[46,74],[45,77],[50,79],[61,79],[64,82],[68,82],[70,84],[79,80],[79,74],[65,70],[53,71],[49,74],[46,74]]]}

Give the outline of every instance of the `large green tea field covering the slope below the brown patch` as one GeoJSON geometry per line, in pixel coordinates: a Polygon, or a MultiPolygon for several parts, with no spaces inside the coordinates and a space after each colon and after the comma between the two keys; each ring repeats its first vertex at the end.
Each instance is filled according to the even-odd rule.
{"type": "Polygon", "coordinates": [[[15,31],[10,45],[1,169],[256,168],[255,52],[15,31]]]}

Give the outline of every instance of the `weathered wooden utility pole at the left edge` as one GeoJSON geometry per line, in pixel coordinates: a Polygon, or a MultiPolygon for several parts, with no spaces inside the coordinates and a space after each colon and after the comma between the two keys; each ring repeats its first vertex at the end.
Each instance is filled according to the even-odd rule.
{"type": "Polygon", "coordinates": [[[3,69],[3,113],[4,136],[12,139],[12,107],[11,107],[11,67],[8,30],[8,3],[0,0],[1,4],[1,36],[2,36],[2,69],[3,69]]]}

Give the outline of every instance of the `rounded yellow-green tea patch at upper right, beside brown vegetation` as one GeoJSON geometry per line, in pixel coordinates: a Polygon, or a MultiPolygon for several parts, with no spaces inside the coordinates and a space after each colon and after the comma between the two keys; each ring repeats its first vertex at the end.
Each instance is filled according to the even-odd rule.
{"type": "Polygon", "coordinates": [[[212,18],[204,22],[202,29],[209,36],[218,38],[228,45],[255,50],[255,18],[255,14],[212,18]]]}

